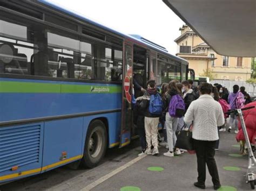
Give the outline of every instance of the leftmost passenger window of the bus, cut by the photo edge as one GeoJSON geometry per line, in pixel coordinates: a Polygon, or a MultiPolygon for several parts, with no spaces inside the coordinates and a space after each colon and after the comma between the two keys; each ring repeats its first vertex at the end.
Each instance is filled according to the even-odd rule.
{"type": "Polygon", "coordinates": [[[27,31],[24,25],[0,20],[0,73],[29,74],[33,44],[27,43],[27,31]]]}

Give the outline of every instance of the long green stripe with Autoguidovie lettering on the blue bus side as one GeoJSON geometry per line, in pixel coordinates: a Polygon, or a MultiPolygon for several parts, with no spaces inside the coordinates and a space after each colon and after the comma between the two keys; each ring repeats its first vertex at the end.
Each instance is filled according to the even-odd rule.
{"type": "Polygon", "coordinates": [[[121,86],[0,81],[0,93],[122,93],[121,86]]]}

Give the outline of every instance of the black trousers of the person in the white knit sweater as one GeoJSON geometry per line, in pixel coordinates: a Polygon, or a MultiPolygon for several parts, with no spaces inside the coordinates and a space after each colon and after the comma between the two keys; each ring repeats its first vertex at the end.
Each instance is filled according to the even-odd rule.
{"type": "Polygon", "coordinates": [[[194,148],[197,153],[197,171],[198,182],[205,183],[206,179],[206,164],[208,171],[212,176],[213,185],[220,185],[219,173],[214,159],[216,141],[194,140],[194,148]]]}

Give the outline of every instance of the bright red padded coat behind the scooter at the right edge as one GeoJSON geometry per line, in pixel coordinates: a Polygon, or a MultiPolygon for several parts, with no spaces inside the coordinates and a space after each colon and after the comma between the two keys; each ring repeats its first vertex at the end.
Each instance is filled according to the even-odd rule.
{"type": "MultiPolygon", "coordinates": [[[[244,106],[244,108],[250,107],[250,106],[255,106],[253,109],[248,109],[242,111],[244,113],[244,121],[245,121],[245,126],[246,130],[248,133],[248,137],[250,140],[250,143],[255,144],[255,138],[256,138],[256,102],[248,103],[247,105],[244,106]]],[[[245,140],[244,132],[242,132],[242,126],[241,122],[239,119],[238,123],[238,129],[239,132],[237,134],[237,141],[240,140],[245,140]]]]}

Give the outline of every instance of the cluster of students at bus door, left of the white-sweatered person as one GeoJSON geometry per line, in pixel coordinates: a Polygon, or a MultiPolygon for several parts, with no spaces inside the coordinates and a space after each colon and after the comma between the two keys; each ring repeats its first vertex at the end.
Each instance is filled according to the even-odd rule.
{"type": "Polygon", "coordinates": [[[160,146],[168,149],[164,155],[166,157],[179,155],[183,151],[175,147],[176,131],[183,128],[186,110],[191,102],[199,97],[199,90],[193,86],[191,80],[182,83],[178,80],[163,83],[160,91],[154,80],[147,81],[146,86],[145,90],[140,87],[143,95],[136,98],[133,109],[134,124],[137,126],[142,146],[142,153],[139,155],[159,154],[159,122],[164,132],[164,140],[160,146]]]}

